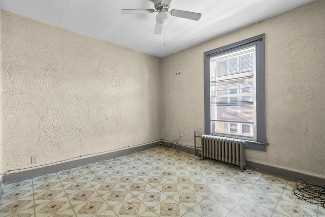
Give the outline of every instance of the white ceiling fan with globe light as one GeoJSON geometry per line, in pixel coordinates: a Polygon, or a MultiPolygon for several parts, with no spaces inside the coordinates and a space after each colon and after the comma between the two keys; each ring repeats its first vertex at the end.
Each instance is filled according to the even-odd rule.
{"type": "Polygon", "coordinates": [[[158,12],[156,16],[156,26],[154,28],[155,35],[161,34],[161,30],[163,30],[163,26],[166,25],[169,21],[169,15],[175,17],[182,17],[186,19],[196,20],[198,21],[201,18],[200,13],[194,13],[190,11],[181,11],[181,10],[171,10],[168,11],[169,6],[172,0],[153,0],[154,9],[122,9],[122,14],[140,14],[140,13],[153,13],[158,12]]]}

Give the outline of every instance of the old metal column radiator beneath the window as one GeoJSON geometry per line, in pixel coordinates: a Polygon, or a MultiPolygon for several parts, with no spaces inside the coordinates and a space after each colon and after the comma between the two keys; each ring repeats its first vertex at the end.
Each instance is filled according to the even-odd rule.
{"type": "Polygon", "coordinates": [[[201,159],[210,158],[245,169],[245,141],[220,136],[201,136],[201,159]]]}

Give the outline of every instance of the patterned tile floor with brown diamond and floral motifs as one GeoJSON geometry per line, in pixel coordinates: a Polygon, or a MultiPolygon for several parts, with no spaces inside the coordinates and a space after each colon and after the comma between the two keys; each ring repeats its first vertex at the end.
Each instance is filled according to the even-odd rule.
{"type": "Polygon", "coordinates": [[[0,216],[325,216],[295,182],[157,147],[6,184],[0,216]]]}

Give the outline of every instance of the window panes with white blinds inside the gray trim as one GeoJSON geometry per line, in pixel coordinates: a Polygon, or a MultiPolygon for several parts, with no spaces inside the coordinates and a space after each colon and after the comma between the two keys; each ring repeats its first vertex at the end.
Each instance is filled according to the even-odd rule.
{"type": "Polygon", "coordinates": [[[255,45],[210,58],[212,133],[255,138],[255,45]]]}

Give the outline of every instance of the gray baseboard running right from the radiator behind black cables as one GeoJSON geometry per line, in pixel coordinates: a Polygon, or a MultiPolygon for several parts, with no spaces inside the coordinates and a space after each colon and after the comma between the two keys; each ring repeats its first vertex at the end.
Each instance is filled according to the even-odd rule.
{"type": "Polygon", "coordinates": [[[246,168],[252,169],[255,171],[262,171],[262,172],[270,173],[270,174],[281,176],[283,178],[287,178],[290,180],[296,180],[297,178],[299,178],[299,179],[306,181],[307,183],[316,184],[321,187],[323,187],[325,185],[325,179],[323,179],[323,178],[307,175],[307,174],[300,173],[297,171],[281,169],[278,167],[272,167],[272,166],[268,166],[265,164],[259,164],[259,163],[255,163],[255,162],[251,162],[251,161],[246,161],[246,168]]]}

